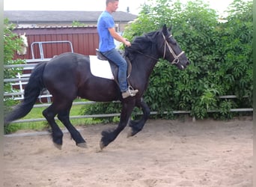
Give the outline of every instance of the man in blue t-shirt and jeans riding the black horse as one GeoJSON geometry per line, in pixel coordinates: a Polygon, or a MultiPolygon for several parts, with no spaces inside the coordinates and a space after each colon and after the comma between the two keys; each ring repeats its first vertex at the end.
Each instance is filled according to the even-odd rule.
{"type": "Polygon", "coordinates": [[[123,98],[135,96],[138,90],[130,90],[127,84],[127,61],[115,49],[114,39],[131,46],[131,43],[115,31],[112,13],[118,9],[118,0],[106,0],[106,10],[100,14],[97,22],[99,51],[118,66],[118,82],[123,98]]]}

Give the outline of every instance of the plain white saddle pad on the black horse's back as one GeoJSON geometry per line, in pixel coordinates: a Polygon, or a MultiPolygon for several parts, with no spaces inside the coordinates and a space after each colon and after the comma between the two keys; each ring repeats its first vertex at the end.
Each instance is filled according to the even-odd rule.
{"type": "Polygon", "coordinates": [[[96,55],[90,55],[91,74],[105,79],[113,79],[114,76],[109,61],[102,61],[96,55]]]}

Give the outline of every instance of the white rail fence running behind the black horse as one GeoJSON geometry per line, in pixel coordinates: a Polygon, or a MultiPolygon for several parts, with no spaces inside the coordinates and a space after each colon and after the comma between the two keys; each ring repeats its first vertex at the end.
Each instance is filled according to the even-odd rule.
{"type": "MultiPolygon", "coordinates": [[[[31,62],[39,62],[38,60],[26,60],[27,63],[31,62]]],[[[40,60],[40,61],[49,61],[49,59],[40,60]]],[[[37,64],[16,64],[16,65],[4,65],[4,68],[13,68],[13,67],[24,67],[26,70],[32,70],[35,65],[37,64]]],[[[12,84],[19,85],[19,91],[16,91],[14,93],[4,93],[4,96],[12,96],[13,99],[23,99],[23,89],[22,85],[24,83],[28,82],[30,74],[25,74],[23,76],[17,75],[17,78],[13,79],[4,79],[4,82],[13,82],[12,84]],[[15,97],[16,96],[16,97],[15,97]]],[[[47,98],[47,102],[50,102],[50,98],[52,97],[49,92],[45,92],[43,95],[40,95],[38,98],[47,98]]],[[[245,96],[246,97],[246,96],[245,96]]],[[[228,95],[228,96],[219,96],[221,99],[235,99],[237,96],[235,95],[228,95]]],[[[114,101],[118,102],[118,101],[114,101]]],[[[87,101],[87,102],[73,102],[73,105],[88,105],[88,104],[94,104],[96,102],[93,101],[87,101]]],[[[50,103],[40,104],[40,105],[34,105],[34,108],[46,108],[50,103]]],[[[232,108],[231,112],[246,112],[246,111],[253,111],[253,108],[232,108]]],[[[208,112],[219,112],[218,110],[211,110],[208,112]]],[[[191,111],[172,111],[173,114],[190,114],[191,111]]],[[[151,111],[150,114],[158,114],[157,111],[151,111]]],[[[167,111],[164,112],[164,114],[168,114],[167,111]]],[[[92,114],[92,115],[79,115],[79,116],[70,116],[70,119],[79,119],[79,118],[92,118],[92,117],[116,117],[120,116],[120,113],[115,114],[92,114]]],[[[55,118],[58,120],[57,118],[55,118]]],[[[45,118],[37,118],[37,119],[26,119],[26,120],[15,120],[12,123],[27,123],[27,122],[36,122],[36,121],[45,121],[45,118]]]]}

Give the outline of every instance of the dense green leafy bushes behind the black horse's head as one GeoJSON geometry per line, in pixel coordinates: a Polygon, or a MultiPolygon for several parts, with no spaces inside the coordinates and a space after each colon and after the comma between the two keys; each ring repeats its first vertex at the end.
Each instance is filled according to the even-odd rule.
{"type": "MultiPolygon", "coordinates": [[[[163,24],[172,25],[175,39],[191,62],[185,71],[163,60],[156,64],[144,94],[152,111],[186,110],[200,119],[229,119],[234,115],[231,108],[252,108],[252,1],[234,0],[225,19],[220,22],[216,11],[201,0],[144,4],[124,36],[133,40],[163,24]],[[222,95],[238,98],[220,99],[222,95]]],[[[109,112],[115,110],[109,105],[109,112]]]]}

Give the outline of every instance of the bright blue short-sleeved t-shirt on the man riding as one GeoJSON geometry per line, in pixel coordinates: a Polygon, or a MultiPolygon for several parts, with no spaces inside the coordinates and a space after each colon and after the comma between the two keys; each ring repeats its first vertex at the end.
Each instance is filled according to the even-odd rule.
{"type": "Polygon", "coordinates": [[[109,33],[108,28],[114,28],[115,22],[113,19],[113,16],[107,12],[104,11],[100,14],[100,17],[98,18],[97,22],[97,31],[99,34],[99,50],[100,52],[107,52],[111,49],[115,48],[114,38],[109,33]]]}

